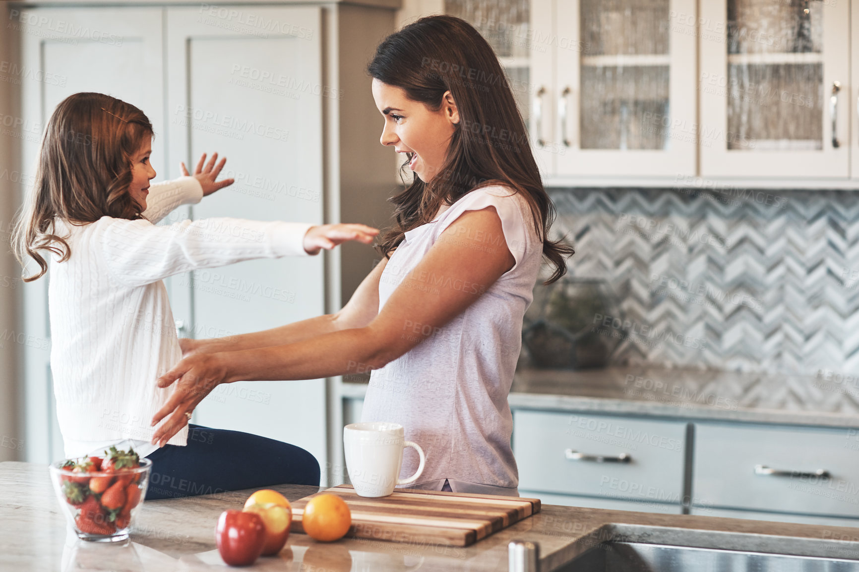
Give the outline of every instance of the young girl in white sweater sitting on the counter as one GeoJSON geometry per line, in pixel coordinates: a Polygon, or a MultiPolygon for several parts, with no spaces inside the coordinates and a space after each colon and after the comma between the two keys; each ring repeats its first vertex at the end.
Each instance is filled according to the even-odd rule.
{"type": "MultiPolygon", "coordinates": [[[[368,243],[377,232],[234,218],[155,226],[180,204],[198,203],[233,181],[216,183],[226,160],[215,165],[213,155],[204,167],[203,155],[193,177],[150,186],[152,136],[137,107],[104,94],[70,95],[46,127],[34,192],[16,228],[21,264],[28,256],[40,267],[24,280],[51,270],[51,370],[67,457],[111,445],[131,445],[142,456],[155,452],[149,419],[169,396],[155,380],[181,357],[162,278],[241,260],[307,256],[344,240],[368,243]]],[[[182,170],[188,174],[184,164],[182,170]]],[[[299,447],[214,429],[190,440],[186,428],[174,433],[172,453],[153,457],[150,484],[194,480],[198,492],[319,484],[316,460],[299,447]],[[231,469],[246,465],[246,457],[255,476],[231,469]],[[217,474],[194,474],[199,466],[217,474]]],[[[187,492],[158,488],[150,488],[150,498],[187,492]]]]}

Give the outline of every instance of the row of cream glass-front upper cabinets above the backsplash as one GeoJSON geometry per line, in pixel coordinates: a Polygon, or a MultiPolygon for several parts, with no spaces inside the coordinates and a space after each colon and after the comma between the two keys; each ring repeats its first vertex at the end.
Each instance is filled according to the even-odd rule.
{"type": "Polygon", "coordinates": [[[524,46],[509,78],[547,186],[856,188],[859,0],[429,4],[404,12],[471,21],[502,62],[524,46]]]}

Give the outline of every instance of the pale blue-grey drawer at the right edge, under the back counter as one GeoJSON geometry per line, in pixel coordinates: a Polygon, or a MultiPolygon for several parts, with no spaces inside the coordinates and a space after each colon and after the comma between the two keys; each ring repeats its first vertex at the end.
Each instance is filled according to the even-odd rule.
{"type": "Polygon", "coordinates": [[[692,498],[708,506],[859,516],[856,429],[695,427],[692,498]],[[760,474],[767,467],[775,474],[760,474]],[[825,471],[826,475],[813,474],[825,471]]]}

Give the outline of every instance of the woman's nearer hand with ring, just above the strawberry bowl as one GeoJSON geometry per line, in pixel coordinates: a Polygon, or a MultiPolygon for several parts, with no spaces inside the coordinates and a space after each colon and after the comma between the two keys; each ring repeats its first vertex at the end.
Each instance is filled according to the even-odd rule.
{"type": "Polygon", "coordinates": [[[155,381],[159,387],[169,387],[178,380],[173,395],[152,417],[152,426],[155,426],[161,419],[170,416],[155,430],[155,435],[152,436],[153,445],[163,447],[173,435],[179,433],[180,429],[188,424],[186,412],[194,411],[211,390],[227,380],[227,368],[220,356],[221,354],[194,354],[184,357],[173,369],[155,381]]]}

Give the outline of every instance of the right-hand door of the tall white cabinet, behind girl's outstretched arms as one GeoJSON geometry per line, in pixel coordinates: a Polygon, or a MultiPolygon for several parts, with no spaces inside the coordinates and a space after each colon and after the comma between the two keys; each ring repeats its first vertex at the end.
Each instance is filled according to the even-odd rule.
{"type": "MultiPolygon", "coordinates": [[[[167,15],[171,168],[228,157],[235,185],[194,205],[195,219],[323,222],[320,9],[202,5],[167,15]],[[189,162],[192,161],[192,162],[189,162]]],[[[174,277],[185,335],[223,337],[324,313],[322,257],[261,259],[174,277]],[[183,299],[184,291],[184,299],[183,299]]],[[[195,423],[265,435],[326,463],[323,380],[219,386],[195,423]]]]}

